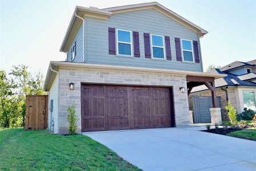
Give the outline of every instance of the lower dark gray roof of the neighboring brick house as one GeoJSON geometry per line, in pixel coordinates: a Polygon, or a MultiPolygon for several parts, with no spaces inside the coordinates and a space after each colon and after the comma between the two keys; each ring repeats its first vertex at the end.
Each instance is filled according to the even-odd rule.
{"type": "MultiPolygon", "coordinates": [[[[215,87],[224,87],[224,86],[249,86],[249,87],[255,87],[256,88],[256,83],[253,82],[246,82],[238,78],[238,76],[235,76],[233,74],[229,74],[227,72],[223,72],[220,69],[213,69],[208,71],[211,74],[226,74],[224,78],[216,79],[215,80],[215,87]]],[[[254,73],[253,73],[254,74],[254,73]]],[[[198,86],[194,87],[192,89],[192,92],[197,92],[197,91],[203,91],[208,89],[206,86],[198,86]]]]}

